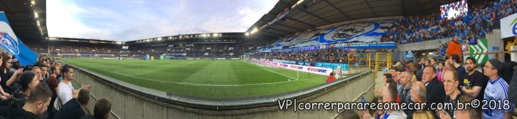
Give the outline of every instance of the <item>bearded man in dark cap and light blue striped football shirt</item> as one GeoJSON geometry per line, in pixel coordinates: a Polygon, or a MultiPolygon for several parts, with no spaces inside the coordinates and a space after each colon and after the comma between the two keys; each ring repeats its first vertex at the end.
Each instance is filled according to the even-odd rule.
{"type": "MultiPolygon", "coordinates": [[[[483,74],[486,77],[489,77],[488,83],[486,83],[486,88],[484,91],[484,99],[486,100],[504,100],[508,99],[508,83],[499,76],[499,71],[503,70],[503,63],[501,63],[497,59],[490,59],[485,63],[483,67],[483,74]]],[[[506,104],[501,104],[506,105],[506,104]]],[[[513,104],[508,104],[509,109],[495,109],[491,110],[488,105],[484,108],[488,108],[487,110],[483,110],[483,118],[512,118],[512,112],[515,106],[513,104]]]]}

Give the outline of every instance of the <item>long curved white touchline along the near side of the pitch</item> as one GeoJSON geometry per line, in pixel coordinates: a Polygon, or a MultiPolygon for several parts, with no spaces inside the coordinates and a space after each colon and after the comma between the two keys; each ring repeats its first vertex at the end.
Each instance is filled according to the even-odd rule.
{"type": "MultiPolygon", "coordinates": [[[[90,67],[90,66],[86,66],[86,67],[90,67]]],[[[90,68],[97,69],[97,68],[94,68],[94,67],[90,67],[90,68]]],[[[97,70],[102,70],[102,69],[97,69],[97,70]]],[[[106,70],[102,70],[102,71],[110,72],[110,71],[106,71],[106,70]]],[[[295,78],[291,78],[291,77],[289,77],[289,79],[287,79],[287,81],[280,81],[280,82],[267,82],[267,83],[255,83],[255,84],[226,84],[226,85],[215,85],[215,84],[192,84],[192,83],[183,83],[183,82],[170,82],[170,81],[162,81],[162,80],[153,80],[153,79],[147,79],[147,78],[134,77],[134,76],[129,76],[129,75],[125,75],[125,74],[119,74],[119,73],[115,73],[115,72],[110,72],[110,73],[118,74],[118,75],[123,75],[123,76],[128,76],[128,77],[133,77],[133,78],[144,79],[144,80],[157,81],[157,82],[176,83],[176,84],[188,84],[188,85],[194,85],[194,86],[214,86],[214,87],[228,87],[228,86],[253,86],[253,85],[260,85],[260,84],[275,84],[275,83],[282,83],[282,82],[290,82],[290,81],[291,81],[290,79],[295,79],[295,78]]],[[[284,75],[284,76],[285,76],[285,75],[284,75]]],[[[297,80],[298,80],[298,79],[296,79],[296,80],[292,80],[292,81],[297,81],[297,80]]]]}

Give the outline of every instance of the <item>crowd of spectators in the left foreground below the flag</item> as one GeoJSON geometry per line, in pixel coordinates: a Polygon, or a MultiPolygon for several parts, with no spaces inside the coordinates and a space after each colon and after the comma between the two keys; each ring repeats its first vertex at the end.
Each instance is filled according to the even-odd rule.
{"type": "Polygon", "coordinates": [[[1,53],[0,64],[0,118],[110,118],[111,101],[101,97],[90,104],[93,85],[72,87],[69,65],[45,56],[34,65],[21,65],[8,53],[1,53]],[[83,108],[89,104],[95,108],[86,114],[83,108]]]}

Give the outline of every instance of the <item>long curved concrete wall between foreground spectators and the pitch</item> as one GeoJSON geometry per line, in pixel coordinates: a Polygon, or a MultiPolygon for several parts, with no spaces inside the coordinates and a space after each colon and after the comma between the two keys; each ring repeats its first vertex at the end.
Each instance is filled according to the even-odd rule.
{"type": "MultiPolygon", "coordinates": [[[[200,110],[177,105],[165,104],[141,95],[121,90],[103,80],[94,79],[84,71],[74,69],[75,80],[79,83],[92,83],[92,95],[97,98],[108,97],[112,100],[112,112],[119,118],[332,118],[337,115],[337,110],[333,111],[280,111],[278,106],[231,110],[231,111],[212,111],[200,110]]],[[[324,92],[314,94],[310,97],[298,99],[298,101],[332,102],[332,101],[360,101],[359,96],[363,95],[368,101],[373,101],[375,73],[369,73],[356,79],[348,80],[336,87],[327,89],[324,92]]],[[[80,87],[78,83],[73,83],[74,87],[80,87]]],[[[93,112],[95,99],[90,99],[86,107],[93,112]]],[[[115,118],[115,116],[111,116],[115,118]]]]}

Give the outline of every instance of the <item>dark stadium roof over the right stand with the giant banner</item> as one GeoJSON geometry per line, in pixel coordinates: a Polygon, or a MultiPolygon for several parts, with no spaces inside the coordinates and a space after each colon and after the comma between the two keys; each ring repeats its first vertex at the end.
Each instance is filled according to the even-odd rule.
{"type": "MultiPolygon", "coordinates": [[[[345,21],[429,15],[438,13],[440,5],[457,1],[459,0],[280,0],[246,32],[256,29],[256,36],[274,39],[345,21]],[[290,13],[282,16],[285,11],[290,13]]],[[[480,2],[469,0],[468,4],[472,6],[480,2]]]]}

